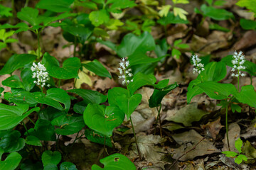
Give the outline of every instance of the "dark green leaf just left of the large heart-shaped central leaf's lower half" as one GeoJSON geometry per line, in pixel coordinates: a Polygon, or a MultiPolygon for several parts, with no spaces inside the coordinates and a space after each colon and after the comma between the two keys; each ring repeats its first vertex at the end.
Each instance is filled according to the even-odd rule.
{"type": "Polygon", "coordinates": [[[85,127],[82,116],[60,115],[51,121],[52,125],[58,126],[55,132],[59,135],[73,135],[85,127]]]}

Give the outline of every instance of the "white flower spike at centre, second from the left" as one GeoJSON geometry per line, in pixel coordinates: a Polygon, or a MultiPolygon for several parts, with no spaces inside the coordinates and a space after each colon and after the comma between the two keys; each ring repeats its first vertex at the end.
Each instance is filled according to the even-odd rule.
{"type": "Polygon", "coordinates": [[[124,79],[122,81],[122,84],[129,84],[133,81],[133,79],[130,79],[132,77],[132,69],[129,69],[129,61],[126,57],[122,58],[122,62],[119,62],[119,79],[124,79]],[[130,79],[130,80],[129,80],[130,79]]]}

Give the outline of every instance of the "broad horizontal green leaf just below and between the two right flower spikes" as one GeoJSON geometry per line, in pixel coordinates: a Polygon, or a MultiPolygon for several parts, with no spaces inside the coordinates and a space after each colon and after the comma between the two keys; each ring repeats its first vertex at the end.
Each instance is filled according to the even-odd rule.
{"type": "Polygon", "coordinates": [[[220,84],[215,81],[205,81],[197,85],[200,89],[203,90],[210,98],[216,100],[222,100],[228,98],[230,94],[233,94],[236,91],[233,84],[220,84]]]}

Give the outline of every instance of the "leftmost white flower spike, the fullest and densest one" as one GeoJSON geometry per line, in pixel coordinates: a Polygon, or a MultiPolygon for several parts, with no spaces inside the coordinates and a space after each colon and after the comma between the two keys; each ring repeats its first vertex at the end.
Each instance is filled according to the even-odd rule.
{"type": "MultiPolygon", "coordinates": [[[[46,86],[46,81],[50,79],[46,67],[44,67],[44,65],[40,62],[38,62],[38,64],[33,62],[31,71],[33,72],[32,78],[36,79],[35,81],[33,81],[34,84],[41,85],[42,87],[46,86]]],[[[50,84],[48,84],[47,86],[49,87],[50,84]]]]}

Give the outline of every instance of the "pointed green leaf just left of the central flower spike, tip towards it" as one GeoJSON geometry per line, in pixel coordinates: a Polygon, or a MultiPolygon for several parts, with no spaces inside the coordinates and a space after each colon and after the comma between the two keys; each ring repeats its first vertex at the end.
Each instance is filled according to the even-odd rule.
{"type": "Polygon", "coordinates": [[[92,62],[88,62],[86,64],[82,64],[85,69],[88,69],[90,72],[94,72],[100,77],[109,77],[112,79],[110,72],[98,61],[93,60],[92,62]]]}

